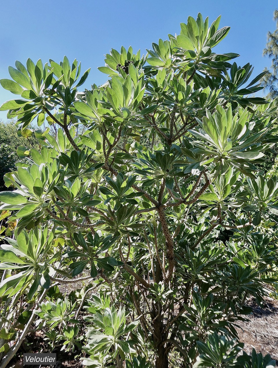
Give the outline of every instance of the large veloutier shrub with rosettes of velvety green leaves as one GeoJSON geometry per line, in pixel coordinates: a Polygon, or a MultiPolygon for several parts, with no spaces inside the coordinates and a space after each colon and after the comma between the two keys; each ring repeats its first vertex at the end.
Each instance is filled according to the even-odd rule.
{"type": "Polygon", "coordinates": [[[213,52],[230,29],[219,22],[189,17],[147,56],[112,49],[90,90],[66,57],[16,61],[1,79],[22,134],[34,119],[57,131],[0,193],[16,223],[0,250],[2,368],[37,316],[51,346],[83,349],[91,367],[275,365],[242,355],[235,327],[275,280],[278,181],[256,165],[277,107],[249,97],[263,73],[213,52]]]}

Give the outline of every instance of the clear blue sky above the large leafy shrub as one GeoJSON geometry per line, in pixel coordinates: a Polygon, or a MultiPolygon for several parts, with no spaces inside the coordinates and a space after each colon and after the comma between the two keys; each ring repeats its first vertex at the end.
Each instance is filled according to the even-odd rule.
{"type": "MultiPolygon", "coordinates": [[[[227,37],[214,49],[219,53],[235,52],[238,64],[252,64],[255,74],[270,66],[262,56],[267,32],[275,30],[273,13],[277,0],[6,0],[1,1],[0,78],[10,78],[8,66],[15,60],[26,64],[49,59],[59,63],[66,55],[72,62],[81,61],[82,71],[91,67],[84,84],[102,84],[107,76],[97,67],[104,66],[104,54],[130,45],[133,51],[151,48],[168,33],[179,34],[198,12],[209,17],[209,24],[220,14],[220,27],[231,26],[227,37]]],[[[0,105],[16,95],[0,86],[0,105]]],[[[6,120],[6,113],[0,112],[6,120]]]]}

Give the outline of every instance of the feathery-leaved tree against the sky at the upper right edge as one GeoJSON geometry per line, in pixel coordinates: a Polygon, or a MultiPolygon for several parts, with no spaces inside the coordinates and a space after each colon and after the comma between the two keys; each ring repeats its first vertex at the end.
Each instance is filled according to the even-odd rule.
{"type": "Polygon", "coordinates": [[[274,21],[276,29],[274,32],[267,33],[267,45],[264,49],[264,56],[271,60],[271,70],[265,68],[266,74],[262,79],[262,86],[268,91],[268,97],[278,96],[278,10],[274,11],[274,21]]]}

